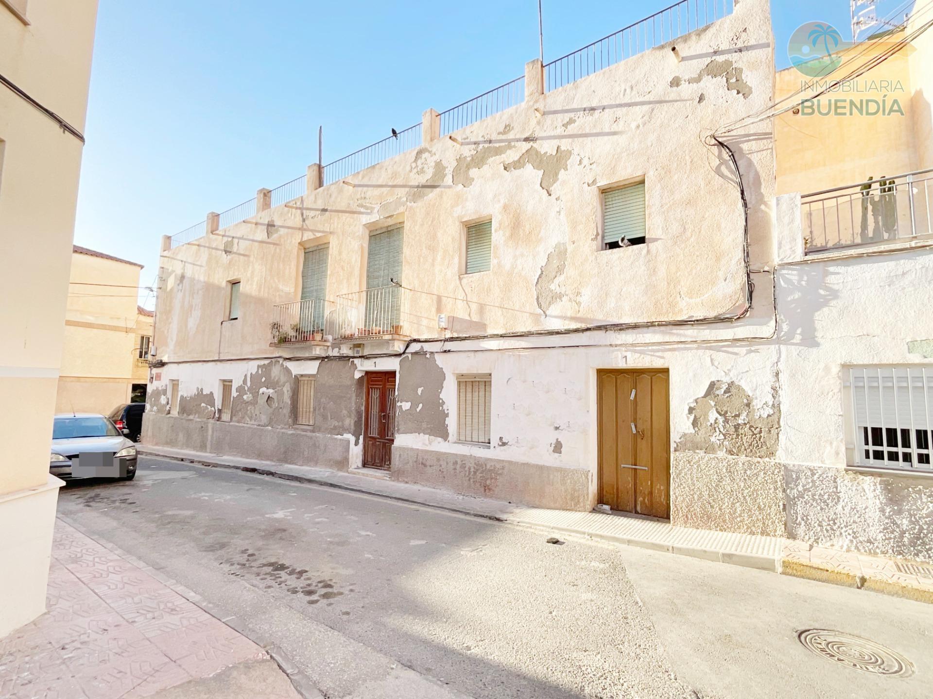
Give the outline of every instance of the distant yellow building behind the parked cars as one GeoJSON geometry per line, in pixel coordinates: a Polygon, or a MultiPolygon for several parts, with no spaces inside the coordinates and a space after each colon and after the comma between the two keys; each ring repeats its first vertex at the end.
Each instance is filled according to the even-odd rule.
{"type": "Polygon", "coordinates": [[[108,415],[146,399],[152,312],[136,305],[143,266],[74,250],[55,409],[108,415]]]}

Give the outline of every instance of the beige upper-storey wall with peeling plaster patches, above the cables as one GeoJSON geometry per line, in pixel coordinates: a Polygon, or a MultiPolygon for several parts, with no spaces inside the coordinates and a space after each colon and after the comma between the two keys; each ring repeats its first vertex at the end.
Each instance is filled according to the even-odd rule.
{"type": "MultiPolygon", "coordinates": [[[[770,103],[771,40],[768,3],[745,0],[733,15],[678,38],[682,62],[672,60],[668,45],[648,50],[456,132],[461,141],[493,143],[439,139],[348,178],[439,188],[327,185],[301,203],[370,213],[278,206],[250,217],[260,226],[238,223],[174,248],[161,263],[160,359],[282,354],[269,347],[272,305],[299,298],[299,245],[329,243],[327,298],[335,299],[364,288],[369,233],[390,217],[405,224],[403,279],[412,291],[402,321],[412,336],[439,336],[439,313],[465,319],[453,332],[507,333],[739,308],[742,207],[724,154],[699,134],[770,103]],[[717,74],[701,58],[710,51],[727,52],[717,61],[731,67],[690,84],[704,69],[717,74]],[[741,75],[741,89],[730,72],[741,75]],[[670,87],[677,76],[684,84],[670,87]],[[495,143],[503,139],[512,140],[495,143]],[[647,182],[647,244],[601,250],[600,189],[640,177],[647,182]],[[486,216],[493,219],[492,269],[462,276],[464,223],[486,216]],[[221,322],[230,280],[241,281],[240,318],[221,322]]],[[[734,147],[758,264],[772,235],[773,158],[757,142],[740,139],[734,147]]]]}

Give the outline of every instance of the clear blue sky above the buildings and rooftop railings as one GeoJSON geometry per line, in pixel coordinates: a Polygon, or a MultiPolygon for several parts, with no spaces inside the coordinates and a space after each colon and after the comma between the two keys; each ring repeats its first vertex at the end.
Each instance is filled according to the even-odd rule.
{"type": "MultiPolygon", "coordinates": [[[[545,61],[671,2],[543,0],[545,61]]],[[[778,68],[804,21],[849,37],[848,0],[772,12],[778,68]]],[[[149,285],[162,234],[301,175],[318,125],[341,158],[522,75],[537,39],[535,0],[100,0],[75,242],[149,285]]]]}

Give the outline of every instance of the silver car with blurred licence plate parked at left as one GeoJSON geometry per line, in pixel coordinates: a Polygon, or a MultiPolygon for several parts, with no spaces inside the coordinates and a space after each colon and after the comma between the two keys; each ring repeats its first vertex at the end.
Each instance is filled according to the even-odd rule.
{"type": "Polygon", "coordinates": [[[110,418],[93,413],[56,415],[49,473],[70,478],[123,478],[136,475],[136,445],[110,418]]]}

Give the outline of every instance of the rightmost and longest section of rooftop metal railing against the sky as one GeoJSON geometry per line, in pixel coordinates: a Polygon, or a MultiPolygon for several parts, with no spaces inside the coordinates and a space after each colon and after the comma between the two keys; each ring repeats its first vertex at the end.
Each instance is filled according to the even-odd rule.
{"type": "Polygon", "coordinates": [[[545,91],[563,88],[731,14],[734,0],[682,0],[544,66],[545,91]]]}

